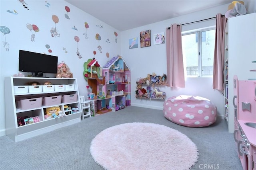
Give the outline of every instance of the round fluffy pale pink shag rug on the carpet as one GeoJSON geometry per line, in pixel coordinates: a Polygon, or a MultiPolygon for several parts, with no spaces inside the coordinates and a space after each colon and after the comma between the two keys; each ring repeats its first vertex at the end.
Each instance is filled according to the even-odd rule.
{"type": "Polygon", "coordinates": [[[188,170],[198,160],[186,135],[155,123],[109,127],[92,140],[90,152],[107,170],[188,170]]]}

